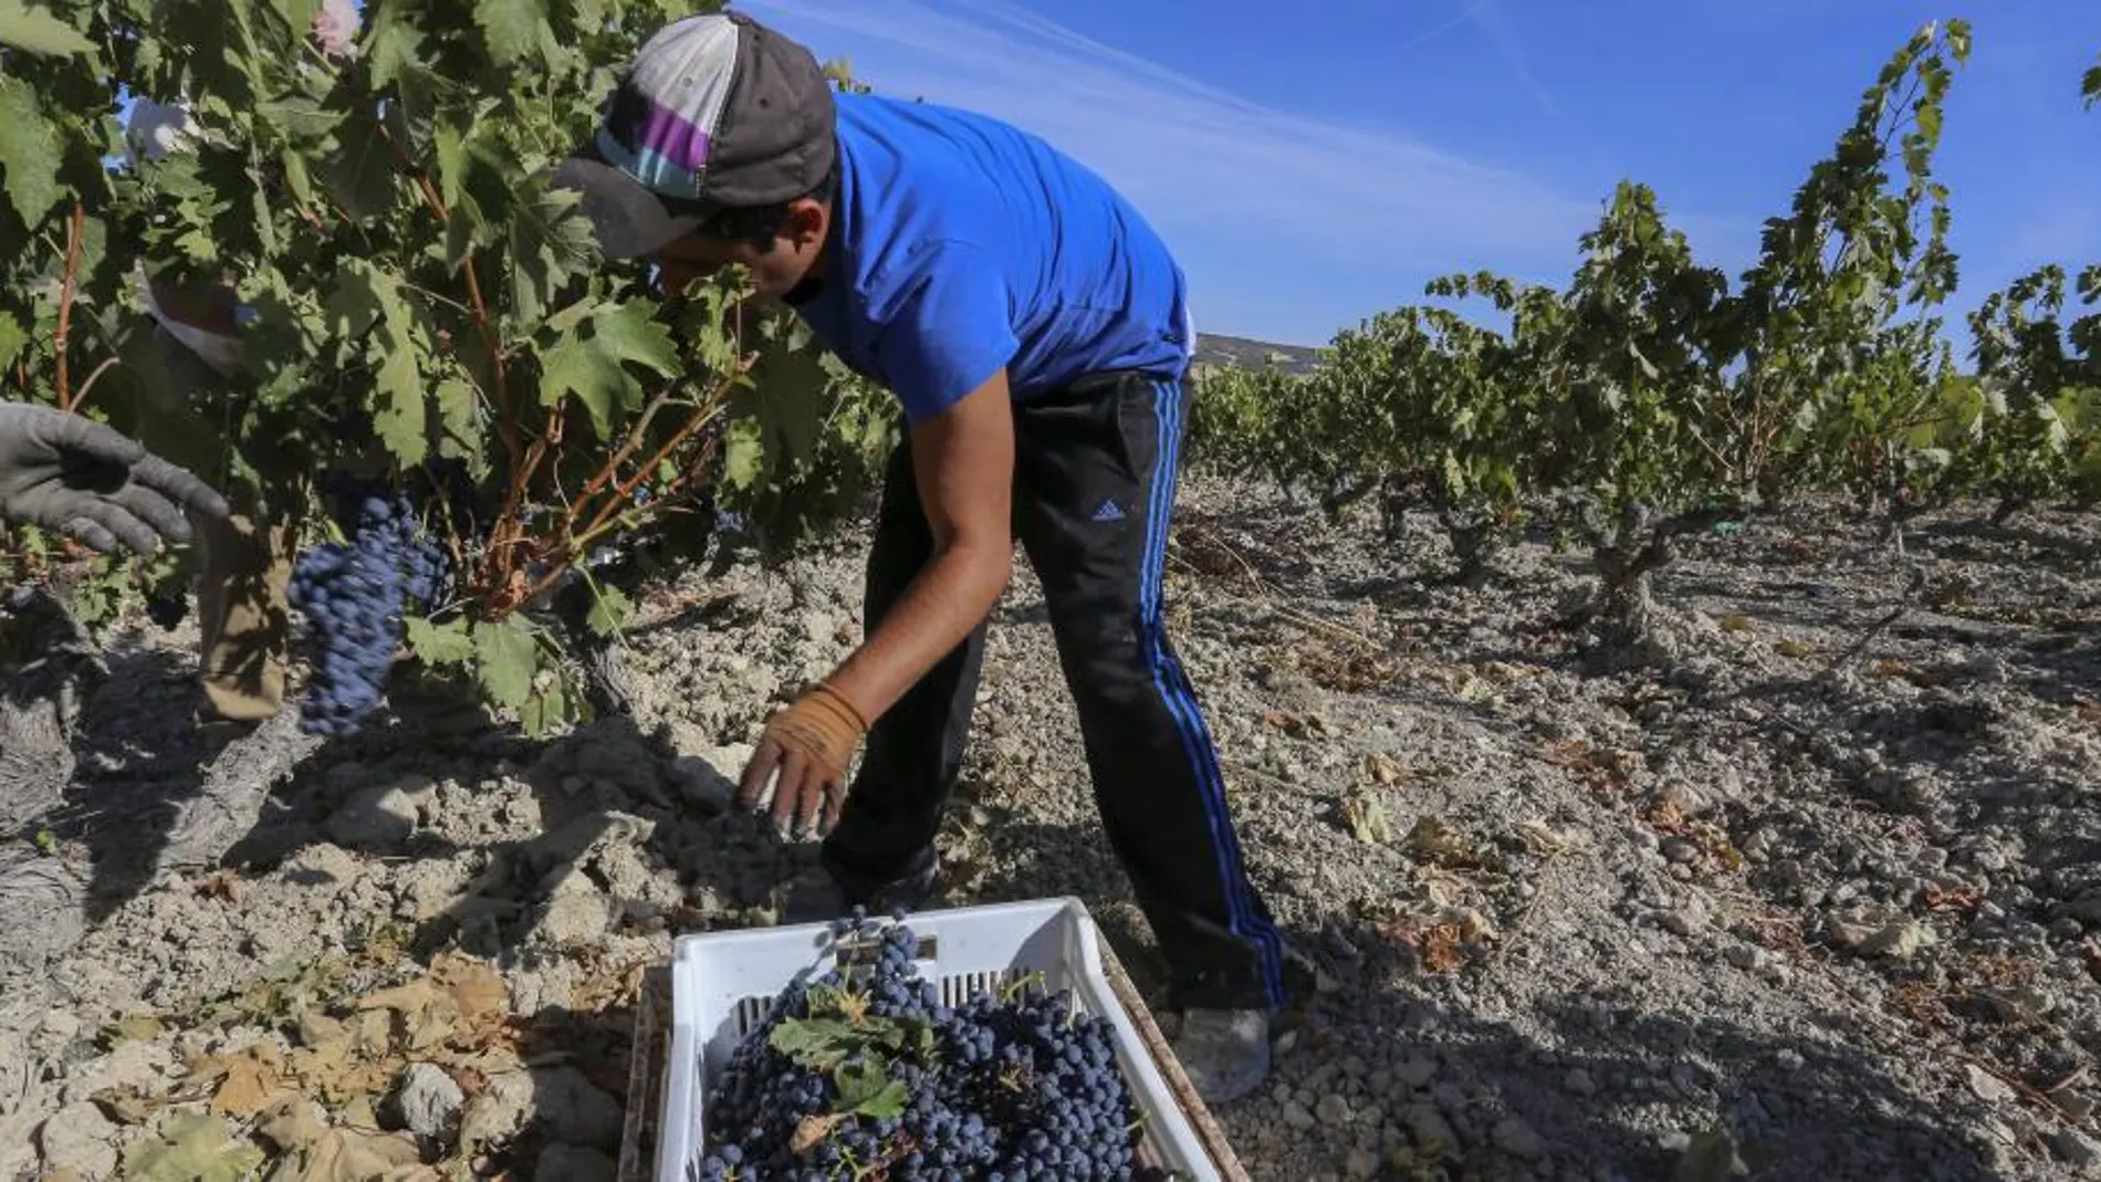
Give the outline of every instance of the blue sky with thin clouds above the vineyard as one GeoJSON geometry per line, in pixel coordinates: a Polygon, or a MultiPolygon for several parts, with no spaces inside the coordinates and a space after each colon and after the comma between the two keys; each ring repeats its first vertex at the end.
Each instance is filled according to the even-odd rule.
{"type": "MultiPolygon", "coordinates": [[[[735,0],[882,92],[1008,118],[1130,193],[1198,328],[1324,344],[1448,271],[1563,281],[1620,178],[1731,275],[1925,21],[1975,31],[1937,170],[1967,311],[2101,260],[2093,0],[735,0]]],[[[1956,336],[1964,342],[1964,336],[1956,336]]]]}

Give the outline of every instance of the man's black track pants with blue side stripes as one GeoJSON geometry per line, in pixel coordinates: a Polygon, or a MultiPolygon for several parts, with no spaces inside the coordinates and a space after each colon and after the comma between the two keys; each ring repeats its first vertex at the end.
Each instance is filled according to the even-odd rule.
{"type": "MultiPolygon", "coordinates": [[[[1015,407],[1015,531],[1044,588],[1095,804],[1183,1006],[1284,1001],[1282,947],[1242,869],[1225,779],[1160,603],[1187,393],[1109,374],[1015,407]]],[[[891,458],[864,619],[933,558],[908,445],[891,458]]],[[[962,771],[985,626],[882,714],[826,863],[849,890],[908,878],[962,771]]]]}

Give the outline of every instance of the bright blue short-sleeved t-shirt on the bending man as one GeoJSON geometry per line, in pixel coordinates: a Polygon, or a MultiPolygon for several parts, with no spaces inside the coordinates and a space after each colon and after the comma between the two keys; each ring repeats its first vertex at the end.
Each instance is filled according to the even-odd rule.
{"type": "Polygon", "coordinates": [[[1174,256],[1107,181],[1038,136],[838,94],[838,155],[826,275],[796,311],[897,395],[906,422],[1002,365],[1015,401],[1103,370],[1187,367],[1174,256]]]}

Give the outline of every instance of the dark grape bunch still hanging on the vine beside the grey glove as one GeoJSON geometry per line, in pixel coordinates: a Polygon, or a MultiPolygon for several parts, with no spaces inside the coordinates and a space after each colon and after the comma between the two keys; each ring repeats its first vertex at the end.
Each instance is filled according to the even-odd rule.
{"type": "Polygon", "coordinates": [[[349,544],[298,556],[288,594],[311,628],[313,678],[300,710],[307,733],[357,731],[384,695],[403,611],[435,605],[448,579],[445,548],[403,498],[366,495],[349,544]]]}

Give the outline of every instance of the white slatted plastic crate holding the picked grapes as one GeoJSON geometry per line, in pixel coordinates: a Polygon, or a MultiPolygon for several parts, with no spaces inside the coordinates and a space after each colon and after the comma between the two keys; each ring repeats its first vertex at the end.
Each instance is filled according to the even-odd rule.
{"type": "MultiPolygon", "coordinates": [[[[1109,1018],[1130,1100],[1145,1119],[1139,1161],[1177,1178],[1221,1182],[1216,1163],[1109,987],[1095,920],[1078,899],[916,911],[906,926],[920,941],[918,974],[950,1004],[1042,972],[1046,989],[1069,989],[1080,1010],[1109,1018]]],[[[815,966],[815,976],[834,966],[834,947],[826,924],[679,936],[670,966],[672,1033],[656,1138],[658,1182],[698,1176],[708,1090],[796,972],[815,966]]],[[[872,959],[874,949],[868,953],[872,959]]]]}

